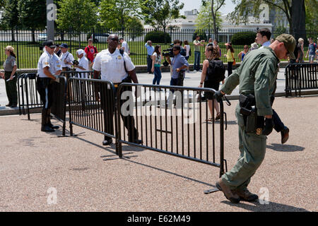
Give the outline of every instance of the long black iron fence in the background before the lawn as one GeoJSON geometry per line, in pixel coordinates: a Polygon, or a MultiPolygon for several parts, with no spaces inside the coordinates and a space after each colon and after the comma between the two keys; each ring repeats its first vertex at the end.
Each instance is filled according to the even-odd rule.
{"type": "MultiPolygon", "coordinates": [[[[111,33],[116,33],[119,36],[124,37],[124,40],[129,45],[130,57],[135,65],[146,65],[146,41],[151,39],[153,41],[153,46],[160,44],[162,50],[168,49],[170,43],[173,40],[181,40],[184,42],[187,40],[189,46],[192,49],[192,56],[189,57],[189,63],[194,63],[194,37],[195,35],[200,35],[201,39],[206,40],[211,37],[213,40],[218,40],[218,45],[221,52],[221,60],[227,62],[225,43],[233,41],[233,47],[235,50],[235,59],[240,62],[240,58],[237,56],[243,51],[245,44],[250,45],[254,42],[253,34],[252,38],[246,39],[246,41],[234,42],[233,36],[238,32],[256,32],[256,30],[218,30],[214,33],[213,30],[194,30],[194,29],[172,29],[167,30],[165,36],[162,35],[162,31],[156,31],[151,29],[143,30],[92,30],[88,32],[57,32],[55,34],[55,41],[58,44],[66,43],[69,45],[69,52],[73,54],[76,58],[76,50],[84,49],[88,43],[88,38],[93,38],[94,45],[98,49],[98,52],[103,49],[107,49],[107,37],[111,33]],[[152,36],[149,34],[153,32],[152,36]],[[147,39],[147,40],[146,40],[147,39]]],[[[281,35],[283,32],[288,32],[286,30],[275,30],[273,31],[272,37],[275,38],[281,35]]],[[[307,30],[307,37],[313,37],[314,40],[318,37],[318,30],[307,30]]],[[[255,35],[256,37],[256,35],[255,35]]],[[[305,39],[305,37],[304,37],[305,39]]],[[[1,30],[0,31],[0,49],[4,49],[7,45],[11,45],[16,49],[17,64],[19,69],[36,69],[37,61],[42,54],[43,42],[47,40],[46,30],[35,30],[34,32],[30,30],[1,30]]],[[[184,44],[182,44],[184,45],[184,44]]],[[[307,45],[305,45],[305,52],[307,52],[307,45]]],[[[201,52],[201,63],[204,61],[204,47],[200,47],[201,52]]],[[[4,51],[0,51],[0,64],[2,64],[6,59],[4,51]]]]}

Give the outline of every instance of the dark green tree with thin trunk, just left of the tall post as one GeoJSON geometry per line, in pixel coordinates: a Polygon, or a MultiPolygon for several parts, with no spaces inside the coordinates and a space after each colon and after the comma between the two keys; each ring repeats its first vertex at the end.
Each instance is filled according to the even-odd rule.
{"type": "Polygon", "coordinates": [[[47,25],[46,1],[20,0],[18,1],[19,21],[23,28],[32,31],[32,41],[35,42],[35,30],[45,29],[47,25]]]}

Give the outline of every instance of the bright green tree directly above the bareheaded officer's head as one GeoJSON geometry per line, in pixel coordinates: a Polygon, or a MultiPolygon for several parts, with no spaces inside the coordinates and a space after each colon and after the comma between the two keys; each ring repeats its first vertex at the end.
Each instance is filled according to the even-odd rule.
{"type": "Polygon", "coordinates": [[[129,28],[131,18],[139,15],[136,0],[102,0],[100,1],[100,25],[104,28],[122,30],[129,28]]]}

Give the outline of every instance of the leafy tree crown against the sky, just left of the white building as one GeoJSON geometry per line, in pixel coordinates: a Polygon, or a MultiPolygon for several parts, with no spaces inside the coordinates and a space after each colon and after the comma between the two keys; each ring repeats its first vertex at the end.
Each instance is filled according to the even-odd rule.
{"type": "Polygon", "coordinates": [[[155,29],[163,28],[164,32],[171,20],[184,18],[180,15],[184,4],[180,4],[179,0],[140,0],[140,6],[141,16],[145,23],[155,29]]]}

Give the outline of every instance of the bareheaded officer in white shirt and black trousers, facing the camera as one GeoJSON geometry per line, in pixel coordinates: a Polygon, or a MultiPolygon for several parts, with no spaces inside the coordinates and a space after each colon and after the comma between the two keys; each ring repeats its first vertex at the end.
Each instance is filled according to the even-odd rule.
{"type": "MultiPolygon", "coordinates": [[[[99,78],[104,81],[111,81],[114,83],[115,94],[117,93],[117,87],[120,83],[131,83],[131,80],[134,83],[138,83],[138,79],[136,76],[135,66],[131,62],[130,57],[125,52],[121,52],[122,50],[117,49],[119,39],[117,35],[110,35],[107,39],[108,49],[103,50],[98,53],[95,58],[95,62],[93,64],[94,70],[94,78],[99,78]],[[124,66],[124,62],[126,66],[124,66]],[[125,69],[126,67],[126,69],[125,69]]],[[[125,89],[131,90],[130,89],[125,89]]],[[[104,111],[105,120],[105,132],[109,134],[114,134],[114,109],[108,103],[107,105],[107,95],[112,92],[110,89],[100,90],[101,93],[101,102],[102,108],[104,111]]],[[[122,104],[121,100],[121,104],[122,104]]],[[[122,115],[122,114],[121,114],[122,115]]],[[[124,121],[124,126],[128,130],[129,142],[133,143],[142,143],[141,140],[138,139],[138,132],[134,126],[134,117],[129,115],[124,117],[122,115],[122,119],[124,121]]],[[[109,136],[105,136],[103,145],[110,145],[112,143],[112,138],[109,136]]]]}

